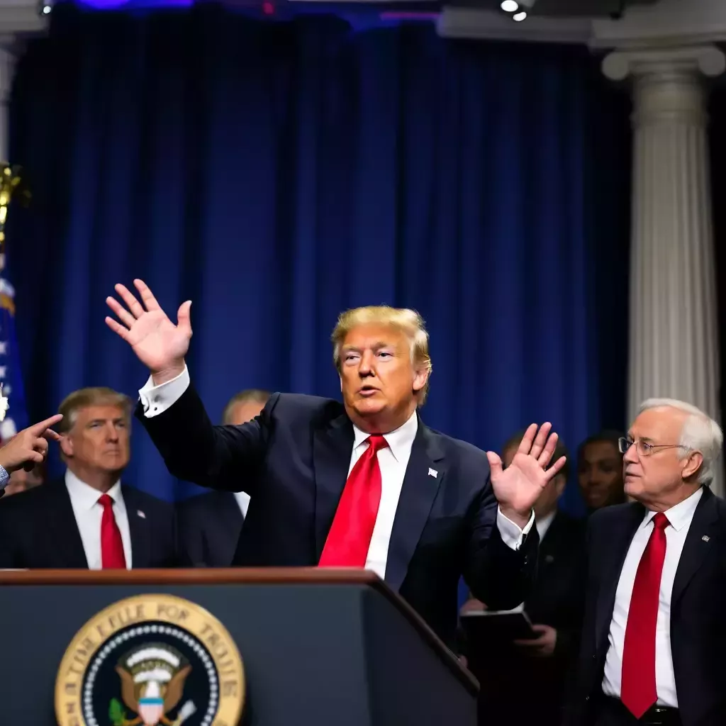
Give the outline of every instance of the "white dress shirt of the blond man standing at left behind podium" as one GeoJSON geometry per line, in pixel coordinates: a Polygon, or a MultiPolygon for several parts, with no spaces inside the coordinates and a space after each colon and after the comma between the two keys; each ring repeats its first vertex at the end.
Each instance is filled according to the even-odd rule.
{"type": "MultiPolygon", "coordinates": [[[[102,569],[101,562],[101,519],[103,506],[98,500],[101,492],[86,482],[81,481],[73,472],[65,470],[65,486],[68,489],[70,505],[76,517],[78,531],[81,533],[83,552],[90,570],[102,569]]],[[[126,505],[121,494],[121,481],[117,481],[107,492],[113,499],[113,515],[116,519],[121,542],[123,543],[123,556],[126,558],[126,569],[131,569],[131,530],[129,529],[129,516],[126,514],[126,505]]]]}

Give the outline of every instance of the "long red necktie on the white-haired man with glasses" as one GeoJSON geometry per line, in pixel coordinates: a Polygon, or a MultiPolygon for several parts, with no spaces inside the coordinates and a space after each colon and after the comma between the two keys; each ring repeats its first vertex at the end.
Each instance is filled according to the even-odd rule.
{"type": "Polygon", "coordinates": [[[668,525],[664,513],[653,517],[653,531],[637,566],[625,627],[620,700],[637,719],[658,700],[656,625],[668,525]]]}

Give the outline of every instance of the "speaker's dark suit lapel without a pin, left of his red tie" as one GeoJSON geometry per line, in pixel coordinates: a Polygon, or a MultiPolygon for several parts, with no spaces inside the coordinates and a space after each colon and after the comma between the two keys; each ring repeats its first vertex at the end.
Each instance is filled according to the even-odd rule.
{"type": "Polygon", "coordinates": [[[340,495],[346,486],[353,453],[353,424],[340,415],[313,434],[315,468],[315,564],[320,560],[325,539],[333,523],[340,495]]]}

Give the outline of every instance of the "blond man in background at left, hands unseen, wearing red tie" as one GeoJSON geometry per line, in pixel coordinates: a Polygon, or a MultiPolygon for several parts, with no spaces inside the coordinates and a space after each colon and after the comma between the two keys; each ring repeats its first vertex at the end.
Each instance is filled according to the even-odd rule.
{"type": "Polygon", "coordinates": [[[81,388],[59,413],[65,476],[0,500],[0,567],[175,566],[174,507],[121,484],[130,453],[128,396],[81,388]]]}

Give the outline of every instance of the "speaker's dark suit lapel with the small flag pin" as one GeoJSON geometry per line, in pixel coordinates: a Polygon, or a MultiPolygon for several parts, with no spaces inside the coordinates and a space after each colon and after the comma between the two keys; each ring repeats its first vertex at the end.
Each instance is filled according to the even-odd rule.
{"type": "Polygon", "coordinates": [[[446,464],[439,437],[419,419],[388,544],[386,583],[393,590],[399,590],[404,582],[433,500],[445,476],[446,464]]]}

